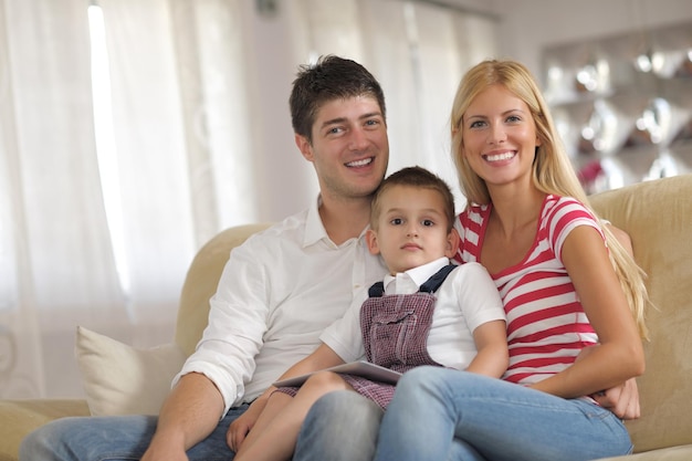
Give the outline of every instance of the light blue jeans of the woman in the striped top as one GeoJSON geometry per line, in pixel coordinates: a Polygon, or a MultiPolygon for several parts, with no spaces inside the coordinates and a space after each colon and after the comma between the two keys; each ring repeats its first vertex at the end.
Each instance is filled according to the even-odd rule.
{"type": "Polygon", "coordinates": [[[622,422],[585,399],[437,367],[406,373],[376,461],[581,461],[630,453],[622,422]]]}

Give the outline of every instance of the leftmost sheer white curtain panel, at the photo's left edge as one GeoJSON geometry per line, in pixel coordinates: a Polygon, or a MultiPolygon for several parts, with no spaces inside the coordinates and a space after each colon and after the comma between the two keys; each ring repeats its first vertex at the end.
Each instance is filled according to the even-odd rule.
{"type": "Polygon", "coordinates": [[[71,313],[85,322],[115,316],[124,300],[94,156],[82,3],[0,3],[2,395],[60,386],[43,353],[71,343],[52,334],[71,313]]]}

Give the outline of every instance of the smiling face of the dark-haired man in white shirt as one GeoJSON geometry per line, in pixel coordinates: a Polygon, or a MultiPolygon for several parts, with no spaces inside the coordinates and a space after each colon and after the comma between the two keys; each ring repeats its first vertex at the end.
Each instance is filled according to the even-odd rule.
{"type": "Polygon", "coordinates": [[[325,103],[313,124],[313,142],[296,145],[317,171],[323,198],[369,197],[389,161],[387,125],[377,99],[355,96],[325,103]]]}

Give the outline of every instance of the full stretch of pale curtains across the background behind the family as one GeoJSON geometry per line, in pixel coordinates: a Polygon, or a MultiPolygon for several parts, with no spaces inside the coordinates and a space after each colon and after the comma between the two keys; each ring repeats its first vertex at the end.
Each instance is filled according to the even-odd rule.
{"type": "Polygon", "coordinates": [[[92,3],[0,0],[0,398],[82,396],[76,325],[170,342],[208,239],[314,200],[287,97],[319,54],[380,80],[389,171],[457,184],[451,99],[495,53],[492,18],[400,0],[92,3]]]}

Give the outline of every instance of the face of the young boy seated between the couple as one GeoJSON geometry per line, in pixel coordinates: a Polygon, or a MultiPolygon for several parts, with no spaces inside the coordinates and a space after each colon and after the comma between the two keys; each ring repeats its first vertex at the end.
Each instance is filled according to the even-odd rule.
{"type": "Polygon", "coordinates": [[[439,192],[412,186],[392,186],[380,197],[377,226],[367,233],[370,253],[380,253],[391,274],[439,258],[452,258],[459,248],[455,230],[447,231],[444,201],[439,192]]]}

